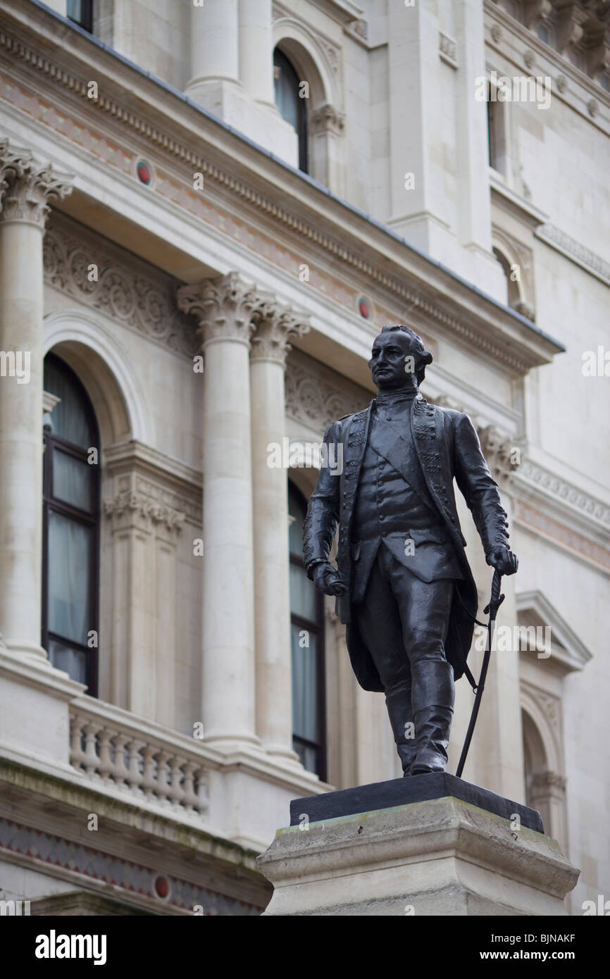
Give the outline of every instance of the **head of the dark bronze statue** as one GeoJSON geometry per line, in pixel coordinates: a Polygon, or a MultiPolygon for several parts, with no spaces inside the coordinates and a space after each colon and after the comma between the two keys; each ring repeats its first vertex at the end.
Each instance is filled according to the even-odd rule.
{"type": "Polygon", "coordinates": [[[426,376],[432,353],[409,326],[395,323],[384,326],[375,338],[368,361],[373,381],[380,391],[418,388],[426,376]]]}

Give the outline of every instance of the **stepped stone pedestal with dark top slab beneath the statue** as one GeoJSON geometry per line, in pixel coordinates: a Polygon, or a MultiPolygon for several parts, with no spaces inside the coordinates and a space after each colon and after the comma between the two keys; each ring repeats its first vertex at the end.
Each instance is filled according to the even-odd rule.
{"type": "Polygon", "coordinates": [[[297,800],[295,824],[279,829],[258,858],[275,888],[264,913],[565,915],[579,871],[556,840],[531,828],[540,816],[467,782],[462,798],[445,794],[449,780],[461,782],[419,775],[318,796],[314,806],[297,800]],[[332,814],[342,803],[351,810],[354,793],[370,799],[375,790],[383,809],[318,817],[325,800],[332,814]],[[409,794],[424,798],[397,805],[409,794]],[[478,794],[479,805],[467,801],[478,794]]]}

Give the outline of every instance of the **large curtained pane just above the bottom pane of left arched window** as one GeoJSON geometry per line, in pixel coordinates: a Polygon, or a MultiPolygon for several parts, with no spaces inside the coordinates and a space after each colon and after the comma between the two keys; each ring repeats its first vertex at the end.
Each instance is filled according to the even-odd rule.
{"type": "Polygon", "coordinates": [[[48,534],[48,629],[84,644],[91,628],[91,529],[51,510],[48,534]]]}

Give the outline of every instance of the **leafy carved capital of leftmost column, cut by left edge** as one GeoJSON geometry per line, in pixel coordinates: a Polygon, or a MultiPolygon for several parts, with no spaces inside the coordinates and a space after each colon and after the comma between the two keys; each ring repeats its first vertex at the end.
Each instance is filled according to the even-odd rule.
{"type": "Polygon", "coordinates": [[[40,166],[29,150],[0,142],[0,220],[26,221],[44,228],[49,199],[70,194],[71,179],[51,163],[40,166]]]}

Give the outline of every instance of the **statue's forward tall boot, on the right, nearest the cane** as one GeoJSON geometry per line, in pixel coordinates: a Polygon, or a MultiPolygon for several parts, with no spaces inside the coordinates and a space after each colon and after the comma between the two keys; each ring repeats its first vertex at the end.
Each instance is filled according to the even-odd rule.
{"type": "Polygon", "coordinates": [[[413,716],[417,751],[411,774],[446,770],[446,749],[453,717],[453,668],[446,661],[426,661],[411,667],[413,716]]]}

